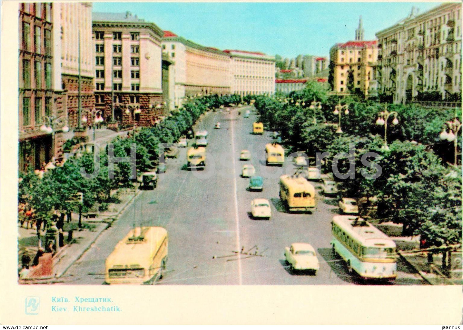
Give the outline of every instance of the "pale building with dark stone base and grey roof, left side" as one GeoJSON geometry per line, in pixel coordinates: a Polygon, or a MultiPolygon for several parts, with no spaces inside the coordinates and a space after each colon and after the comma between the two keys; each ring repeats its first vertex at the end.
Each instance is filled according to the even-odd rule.
{"type": "Polygon", "coordinates": [[[94,12],[95,108],[106,121],[150,126],[163,104],[163,31],[130,12],[94,12]]]}

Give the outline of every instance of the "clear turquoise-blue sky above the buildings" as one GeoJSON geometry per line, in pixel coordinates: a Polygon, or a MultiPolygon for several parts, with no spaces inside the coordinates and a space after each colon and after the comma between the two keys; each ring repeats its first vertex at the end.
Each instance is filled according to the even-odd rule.
{"type": "Polygon", "coordinates": [[[355,38],[359,15],[365,40],[439,2],[94,2],[94,12],[130,11],[208,47],[261,51],[269,55],[328,56],[335,43],[355,38]]]}

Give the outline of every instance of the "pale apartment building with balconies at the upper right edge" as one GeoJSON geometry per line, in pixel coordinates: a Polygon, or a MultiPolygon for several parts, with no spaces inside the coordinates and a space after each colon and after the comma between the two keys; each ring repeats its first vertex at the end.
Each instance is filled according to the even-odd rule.
{"type": "Polygon", "coordinates": [[[411,14],[385,30],[379,39],[378,89],[394,103],[420,99],[426,93],[440,99],[462,91],[462,5],[445,3],[411,14]]]}

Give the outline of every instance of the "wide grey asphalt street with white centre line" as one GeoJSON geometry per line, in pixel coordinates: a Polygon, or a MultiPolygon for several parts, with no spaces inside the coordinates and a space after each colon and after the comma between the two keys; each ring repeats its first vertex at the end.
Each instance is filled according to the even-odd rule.
{"type": "MultiPolygon", "coordinates": [[[[102,284],[106,257],[134,225],[141,225],[163,226],[169,233],[167,269],[157,284],[363,284],[348,275],[342,261],[333,259],[330,221],[338,214],[338,200],[317,189],[313,214],[284,212],[278,197],[279,176],[294,172],[294,166],[289,161],[283,168],[265,166],[264,146],[272,141],[271,134],[250,134],[257,116],[251,112],[244,118],[244,110],[203,116],[195,131],[209,132],[206,169],[185,170],[186,149],[181,148],[177,159],[168,160],[157,188],[139,192],[119,220],[63,275],[64,283],[102,284]],[[213,128],[216,122],[221,129],[213,128]],[[251,151],[250,161],[239,160],[242,149],[251,151]],[[249,179],[240,177],[241,166],[249,163],[264,177],[262,192],[248,191],[249,179]],[[250,202],[258,197],[270,201],[269,221],[250,218],[250,202]],[[285,267],[284,248],[294,242],[313,245],[320,262],[317,275],[293,274],[285,267]],[[243,252],[238,255],[238,251],[243,252]]],[[[395,284],[425,284],[400,260],[397,269],[395,284]]]]}

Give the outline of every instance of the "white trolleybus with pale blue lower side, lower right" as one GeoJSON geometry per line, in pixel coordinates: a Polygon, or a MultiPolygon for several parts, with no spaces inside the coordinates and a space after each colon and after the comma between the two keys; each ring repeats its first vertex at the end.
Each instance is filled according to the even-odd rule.
{"type": "Polygon", "coordinates": [[[397,277],[395,243],[369,222],[351,215],[333,217],[331,242],[333,253],[364,279],[397,277]]]}

